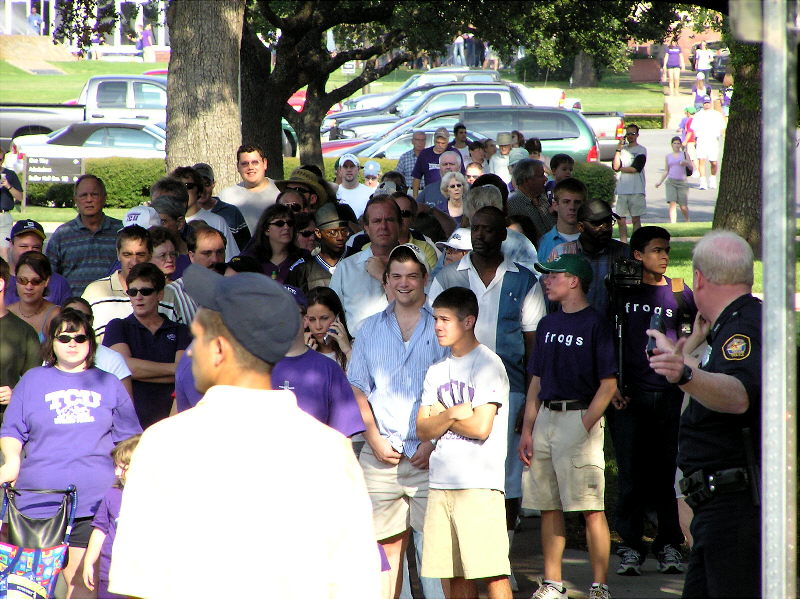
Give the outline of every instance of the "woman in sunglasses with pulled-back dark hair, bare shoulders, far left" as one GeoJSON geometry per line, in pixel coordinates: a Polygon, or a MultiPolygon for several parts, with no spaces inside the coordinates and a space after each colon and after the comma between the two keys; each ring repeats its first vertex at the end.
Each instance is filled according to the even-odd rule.
{"type": "Polygon", "coordinates": [[[50,260],[41,252],[25,252],[17,260],[16,271],[18,302],[8,309],[31,325],[44,343],[47,325],[58,314],[60,308],[47,301],[44,293],[53,274],[50,260]]]}

